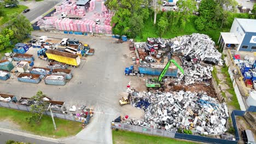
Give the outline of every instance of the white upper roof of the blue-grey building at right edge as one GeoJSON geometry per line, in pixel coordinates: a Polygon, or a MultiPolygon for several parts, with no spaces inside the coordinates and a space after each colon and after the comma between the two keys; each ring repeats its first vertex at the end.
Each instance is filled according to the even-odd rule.
{"type": "Polygon", "coordinates": [[[255,32],[256,33],[256,20],[255,19],[237,19],[236,21],[245,30],[245,32],[255,32]]]}

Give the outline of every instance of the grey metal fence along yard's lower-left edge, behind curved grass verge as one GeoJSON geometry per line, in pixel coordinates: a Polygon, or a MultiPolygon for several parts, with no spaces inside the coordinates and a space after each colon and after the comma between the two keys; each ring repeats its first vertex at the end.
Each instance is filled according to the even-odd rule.
{"type": "MultiPolygon", "coordinates": [[[[9,109],[16,109],[16,110],[22,110],[22,111],[30,111],[30,106],[25,106],[25,105],[18,105],[18,104],[12,104],[12,103],[3,103],[0,101],[0,106],[1,107],[7,107],[9,109]]],[[[45,115],[51,116],[50,112],[45,112],[45,115]]],[[[75,121],[75,122],[84,122],[85,124],[88,124],[90,121],[90,116],[86,117],[85,121],[83,121],[82,118],[80,117],[74,117],[71,115],[66,115],[63,113],[55,113],[53,112],[54,117],[57,118],[62,118],[62,119],[67,119],[69,121],[75,121]]]]}

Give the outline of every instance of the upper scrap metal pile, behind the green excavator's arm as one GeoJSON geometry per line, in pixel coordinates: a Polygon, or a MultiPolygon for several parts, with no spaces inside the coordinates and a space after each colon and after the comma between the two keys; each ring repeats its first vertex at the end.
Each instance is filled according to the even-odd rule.
{"type": "Polygon", "coordinates": [[[168,43],[172,43],[171,51],[183,56],[185,85],[210,80],[212,64],[223,65],[222,54],[214,47],[215,43],[208,35],[194,33],[173,38],[168,43]]]}

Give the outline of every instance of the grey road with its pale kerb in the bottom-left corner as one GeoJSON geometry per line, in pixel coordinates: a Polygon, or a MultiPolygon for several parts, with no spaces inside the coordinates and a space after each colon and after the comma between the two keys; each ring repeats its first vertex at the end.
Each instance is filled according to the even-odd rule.
{"type": "Polygon", "coordinates": [[[60,140],[51,139],[48,137],[41,137],[36,135],[31,135],[27,133],[22,133],[20,131],[13,131],[9,129],[0,128],[0,143],[3,144],[8,140],[20,141],[20,142],[30,142],[36,144],[65,144],[60,142],[60,140]]]}

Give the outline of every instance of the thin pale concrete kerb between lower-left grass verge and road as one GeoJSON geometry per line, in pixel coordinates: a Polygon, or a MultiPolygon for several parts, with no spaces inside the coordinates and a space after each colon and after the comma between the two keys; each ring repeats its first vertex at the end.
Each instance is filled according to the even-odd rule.
{"type": "Polygon", "coordinates": [[[29,134],[29,133],[24,133],[24,132],[21,132],[21,131],[15,131],[15,130],[4,129],[4,128],[0,128],[0,131],[3,131],[4,133],[14,134],[14,135],[31,137],[31,138],[38,139],[38,140],[44,140],[44,141],[56,142],[56,143],[58,143],[58,142],[65,143],[65,142],[62,142],[61,140],[58,140],[58,139],[45,137],[45,136],[33,135],[33,134],[29,134]]]}

